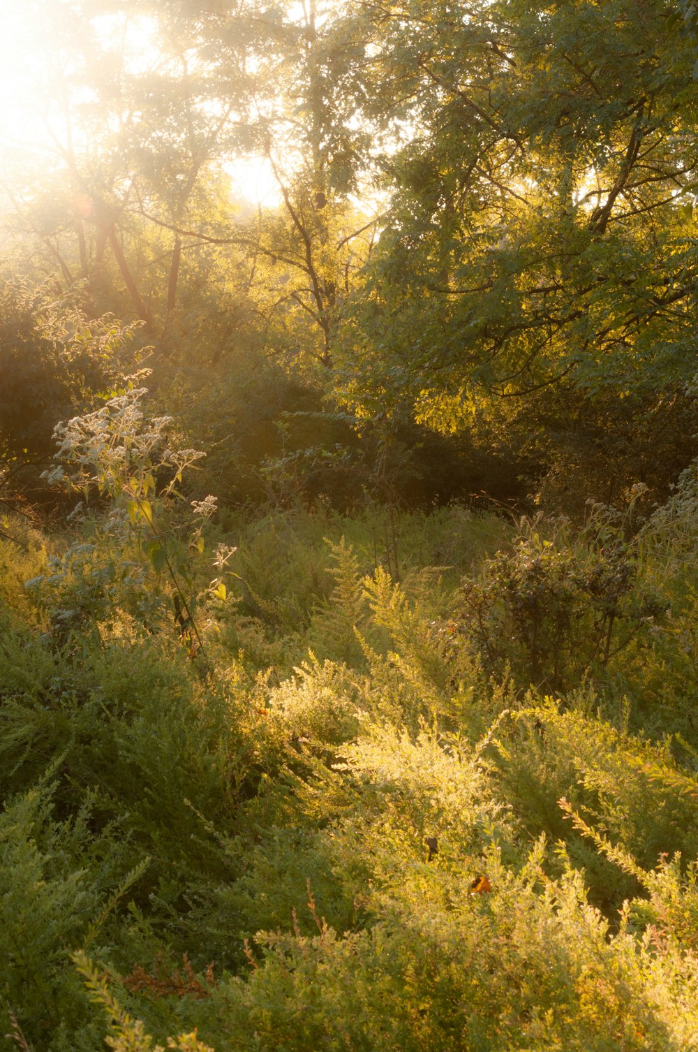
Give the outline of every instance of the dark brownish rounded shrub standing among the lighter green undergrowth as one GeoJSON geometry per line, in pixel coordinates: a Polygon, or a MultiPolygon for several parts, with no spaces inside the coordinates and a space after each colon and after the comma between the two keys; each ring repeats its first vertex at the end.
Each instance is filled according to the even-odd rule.
{"type": "Polygon", "coordinates": [[[466,582],[461,631],[488,671],[563,692],[604,674],[661,620],[668,602],[639,576],[621,525],[614,509],[599,509],[576,542],[564,527],[553,540],[528,529],[466,582]]]}

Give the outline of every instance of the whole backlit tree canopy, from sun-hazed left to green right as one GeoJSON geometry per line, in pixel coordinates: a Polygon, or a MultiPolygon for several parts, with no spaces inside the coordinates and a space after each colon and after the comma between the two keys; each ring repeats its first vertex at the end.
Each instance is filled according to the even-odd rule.
{"type": "Polygon", "coordinates": [[[39,7],[29,278],[140,321],[170,369],[254,347],[354,429],[505,450],[534,488],[691,459],[693,8],[39,7]],[[231,188],[253,158],[256,204],[231,188]]]}

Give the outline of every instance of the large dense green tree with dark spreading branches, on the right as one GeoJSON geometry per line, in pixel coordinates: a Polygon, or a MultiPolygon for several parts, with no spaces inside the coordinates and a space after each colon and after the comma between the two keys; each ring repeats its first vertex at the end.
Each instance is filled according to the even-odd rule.
{"type": "Polygon", "coordinates": [[[368,116],[409,135],[384,158],[394,193],[345,326],[345,401],[549,459],[551,431],[588,421],[591,444],[618,399],[632,432],[684,397],[698,90],[673,11],[353,8],[368,116]]]}

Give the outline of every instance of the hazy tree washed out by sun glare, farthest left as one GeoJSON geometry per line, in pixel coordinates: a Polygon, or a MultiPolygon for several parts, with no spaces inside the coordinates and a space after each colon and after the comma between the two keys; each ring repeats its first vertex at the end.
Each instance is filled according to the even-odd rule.
{"type": "MultiPolygon", "coordinates": [[[[223,210],[221,162],[245,136],[250,34],[196,5],[69,7],[67,18],[65,5],[45,5],[55,163],[25,190],[22,219],[62,283],[87,281],[102,305],[111,297],[166,337],[183,260],[223,210]]],[[[244,21],[249,29],[253,4],[244,21]]]]}

